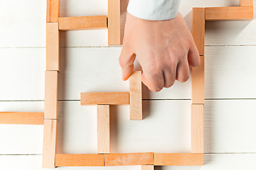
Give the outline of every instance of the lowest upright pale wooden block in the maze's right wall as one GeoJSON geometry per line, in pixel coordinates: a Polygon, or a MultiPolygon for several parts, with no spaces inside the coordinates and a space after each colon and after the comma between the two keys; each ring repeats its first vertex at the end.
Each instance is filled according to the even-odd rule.
{"type": "Polygon", "coordinates": [[[203,104],[191,104],[191,153],[203,153],[203,104]]]}

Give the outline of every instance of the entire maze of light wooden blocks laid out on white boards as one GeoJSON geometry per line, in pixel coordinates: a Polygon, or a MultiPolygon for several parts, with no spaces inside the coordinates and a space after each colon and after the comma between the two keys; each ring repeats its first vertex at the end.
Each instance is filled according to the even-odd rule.
{"type": "Polygon", "coordinates": [[[201,64],[192,68],[191,153],[112,154],[110,147],[110,105],[129,105],[130,119],[142,120],[141,72],[129,78],[128,92],[81,93],[81,105],[97,105],[97,154],[56,154],[58,125],[58,73],[60,31],[108,29],[109,45],[121,45],[120,0],[108,0],[108,16],[59,17],[59,0],[47,1],[46,79],[44,113],[0,113],[0,123],[43,125],[43,168],[56,166],[154,166],[203,165],[204,39],[206,21],[237,21],[253,18],[252,0],[240,6],[193,8],[192,34],[201,64]]]}

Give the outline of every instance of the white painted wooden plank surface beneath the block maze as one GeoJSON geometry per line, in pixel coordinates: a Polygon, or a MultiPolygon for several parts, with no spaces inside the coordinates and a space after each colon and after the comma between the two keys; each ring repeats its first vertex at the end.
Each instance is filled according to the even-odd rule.
{"type": "MultiPolygon", "coordinates": [[[[181,0],[180,11],[191,27],[193,6],[238,4],[181,0]]],[[[107,1],[60,1],[60,16],[92,15],[107,15],[107,1]]],[[[44,0],[0,0],[0,111],[43,112],[45,22],[44,0]]],[[[62,32],[60,39],[57,152],[97,153],[96,107],[78,100],[82,91],[128,91],[121,47],[107,46],[107,30],[62,32]]],[[[256,169],[255,54],[255,19],[206,23],[205,165],[156,169],[256,169]]],[[[141,121],[129,120],[128,106],[110,108],[112,152],[189,152],[191,80],[159,93],[143,86],[143,98],[141,121]]],[[[0,169],[41,169],[42,125],[0,125],[0,135],[0,169]]]]}

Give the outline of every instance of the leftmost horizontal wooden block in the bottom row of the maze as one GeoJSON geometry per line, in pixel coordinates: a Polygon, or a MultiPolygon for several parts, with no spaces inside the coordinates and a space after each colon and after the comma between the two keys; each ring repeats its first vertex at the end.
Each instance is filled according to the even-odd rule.
{"type": "Polygon", "coordinates": [[[104,154],[56,154],[55,166],[104,166],[104,154]]]}

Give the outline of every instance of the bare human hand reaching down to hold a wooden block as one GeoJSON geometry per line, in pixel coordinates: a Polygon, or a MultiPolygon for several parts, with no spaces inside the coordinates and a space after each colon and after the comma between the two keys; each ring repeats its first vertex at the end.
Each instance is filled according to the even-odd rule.
{"type": "Polygon", "coordinates": [[[142,82],[151,91],[161,91],[189,78],[189,67],[200,63],[191,32],[178,13],[167,21],[148,21],[127,13],[124,43],[119,57],[122,79],[127,80],[137,57],[142,66],[142,82]]]}

